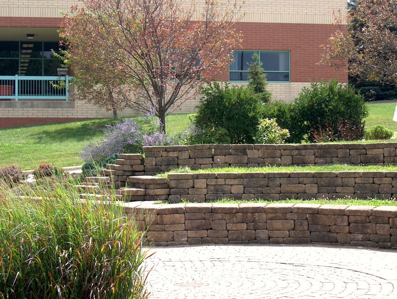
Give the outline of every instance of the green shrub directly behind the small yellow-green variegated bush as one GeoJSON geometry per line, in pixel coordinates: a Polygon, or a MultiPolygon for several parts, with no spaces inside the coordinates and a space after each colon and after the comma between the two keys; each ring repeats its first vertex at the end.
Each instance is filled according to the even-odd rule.
{"type": "Polygon", "coordinates": [[[294,104],[281,101],[270,101],[262,107],[262,118],[276,119],[277,124],[289,131],[288,143],[300,143],[306,131],[295,116],[294,104]]]}

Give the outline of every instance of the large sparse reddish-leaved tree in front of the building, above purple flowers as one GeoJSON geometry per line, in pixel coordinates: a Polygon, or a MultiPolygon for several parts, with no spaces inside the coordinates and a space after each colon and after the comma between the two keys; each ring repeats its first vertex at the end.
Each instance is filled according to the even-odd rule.
{"type": "Polygon", "coordinates": [[[229,2],[82,2],[65,14],[61,34],[76,77],[116,88],[117,107],[153,112],[164,131],[166,114],[223,71],[240,43],[240,7],[229,2]]]}

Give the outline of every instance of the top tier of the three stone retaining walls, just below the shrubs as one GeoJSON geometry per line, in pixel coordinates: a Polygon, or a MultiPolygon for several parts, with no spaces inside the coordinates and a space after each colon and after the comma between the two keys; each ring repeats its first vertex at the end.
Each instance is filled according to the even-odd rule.
{"type": "Polygon", "coordinates": [[[180,166],[260,167],[267,165],[397,164],[397,142],[329,144],[201,144],[145,146],[144,172],[158,174],[180,166]]]}

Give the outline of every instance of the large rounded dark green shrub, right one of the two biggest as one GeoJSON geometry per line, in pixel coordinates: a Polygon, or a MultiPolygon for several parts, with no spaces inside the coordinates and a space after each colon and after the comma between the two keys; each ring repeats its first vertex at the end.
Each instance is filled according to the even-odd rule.
{"type": "Polygon", "coordinates": [[[364,124],[368,115],[364,98],[356,94],[352,87],[338,84],[336,80],[312,83],[310,88],[304,87],[295,99],[293,110],[297,125],[309,141],[313,141],[311,130],[318,130],[320,127],[324,129],[326,123],[337,134],[340,120],[359,127],[364,124]]]}

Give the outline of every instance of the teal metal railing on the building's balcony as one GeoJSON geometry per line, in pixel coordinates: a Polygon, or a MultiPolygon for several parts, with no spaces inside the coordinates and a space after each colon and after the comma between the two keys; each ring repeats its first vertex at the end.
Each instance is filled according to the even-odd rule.
{"type": "Polygon", "coordinates": [[[69,97],[66,76],[0,76],[0,100],[65,100],[69,97]],[[65,82],[64,88],[54,85],[65,82]]]}

